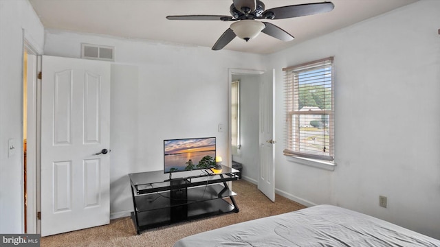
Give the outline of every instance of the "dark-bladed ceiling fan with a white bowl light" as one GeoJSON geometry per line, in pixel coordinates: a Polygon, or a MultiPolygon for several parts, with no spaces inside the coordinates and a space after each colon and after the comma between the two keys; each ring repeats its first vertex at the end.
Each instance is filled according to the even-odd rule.
{"type": "Polygon", "coordinates": [[[212,47],[213,50],[223,49],[235,38],[243,38],[243,40],[250,40],[263,32],[274,38],[283,41],[290,41],[294,36],[282,30],[276,25],[264,21],[256,21],[259,19],[287,19],[298,16],[307,16],[311,14],[318,14],[329,12],[335,8],[331,2],[324,3],[305,3],[298,5],[288,5],[278,8],[265,10],[265,5],[260,0],[233,0],[230,6],[230,13],[232,16],[223,15],[178,15],[166,16],[168,20],[189,20],[189,21],[236,21],[230,25],[217,42],[212,47]]]}

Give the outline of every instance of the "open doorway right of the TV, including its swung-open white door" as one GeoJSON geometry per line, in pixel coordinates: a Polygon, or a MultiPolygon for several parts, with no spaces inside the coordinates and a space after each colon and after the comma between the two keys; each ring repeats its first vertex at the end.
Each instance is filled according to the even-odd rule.
{"type": "Polygon", "coordinates": [[[267,198],[275,201],[274,70],[230,69],[228,79],[231,165],[232,161],[241,163],[242,178],[257,184],[267,198]],[[240,145],[234,150],[232,148],[232,83],[237,80],[240,81],[240,145]],[[245,81],[248,81],[246,88],[245,81]]]}

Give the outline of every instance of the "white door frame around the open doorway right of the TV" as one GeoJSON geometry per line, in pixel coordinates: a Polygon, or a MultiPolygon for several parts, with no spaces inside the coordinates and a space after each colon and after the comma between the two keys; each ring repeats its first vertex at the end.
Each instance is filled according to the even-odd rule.
{"type": "Polygon", "coordinates": [[[263,75],[263,73],[265,71],[255,69],[228,69],[228,167],[232,167],[232,75],[263,75]]]}

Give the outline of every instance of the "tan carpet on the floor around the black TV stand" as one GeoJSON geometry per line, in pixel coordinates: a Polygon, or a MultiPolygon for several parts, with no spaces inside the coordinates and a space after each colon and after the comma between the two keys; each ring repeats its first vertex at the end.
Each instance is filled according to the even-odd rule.
{"type": "Polygon", "coordinates": [[[182,237],[228,226],[260,217],[278,215],[305,208],[304,205],[276,195],[275,202],[267,199],[256,185],[245,180],[232,182],[239,213],[228,213],[201,220],[153,228],[137,235],[130,217],[111,220],[110,224],[80,231],[41,238],[41,246],[173,246],[182,237]]]}

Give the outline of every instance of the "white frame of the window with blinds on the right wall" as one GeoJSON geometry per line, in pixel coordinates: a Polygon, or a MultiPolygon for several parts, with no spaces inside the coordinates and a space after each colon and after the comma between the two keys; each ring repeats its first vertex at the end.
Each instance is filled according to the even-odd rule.
{"type": "MultiPolygon", "coordinates": [[[[323,163],[325,165],[334,165],[334,110],[335,110],[335,104],[334,104],[334,89],[335,89],[335,80],[334,80],[334,63],[333,63],[333,57],[329,58],[323,58],[320,60],[314,60],[311,62],[305,62],[303,64],[294,65],[292,67],[283,68],[283,71],[285,71],[285,149],[283,150],[283,154],[289,159],[292,158],[300,158],[301,160],[307,160],[307,163],[310,162],[319,162],[323,163]],[[325,69],[330,68],[331,70],[331,108],[330,109],[323,109],[323,110],[311,110],[311,111],[300,111],[299,109],[299,93],[296,93],[295,89],[298,89],[299,92],[299,85],[300,80],[295,80],[295,76],[298,77],[300,73],[304,73],[305,71],[314,71],[318,70],[319,68],[325,69]],[[296,108],[295,108],[296,107],[296,108]],[[303,152],[299,149],[303,147],[300,141],[300,124],[296,125],[296,130],[293,130],[294,128],[292,124],[292,118],[296,116],[296,118],[299,122],[300,116],[307,116],[307,115],[329,115],[329,152],[328,154],[322,155],[322,154],[314,154],[313,152],[309,151],[303,152]],[[295,134],[295,132],[297,134],[295,134]],[[295,150],[294,150],[295,147],[295,150]]],[[[325,73],[325,72],[322,72],[325,73]]],[[[325,79],[322,80],[322,83],[325,83],[325,79]]],[[[309,83],[314,84],[312,82],[309,83]]],[[[326,136],[326,134],[325,134],[326,136]]],[[[323,141],[322,143],[325,143],[323,141]]],[[[325,146],[325,148],[327,148],[325,146]]]]}

